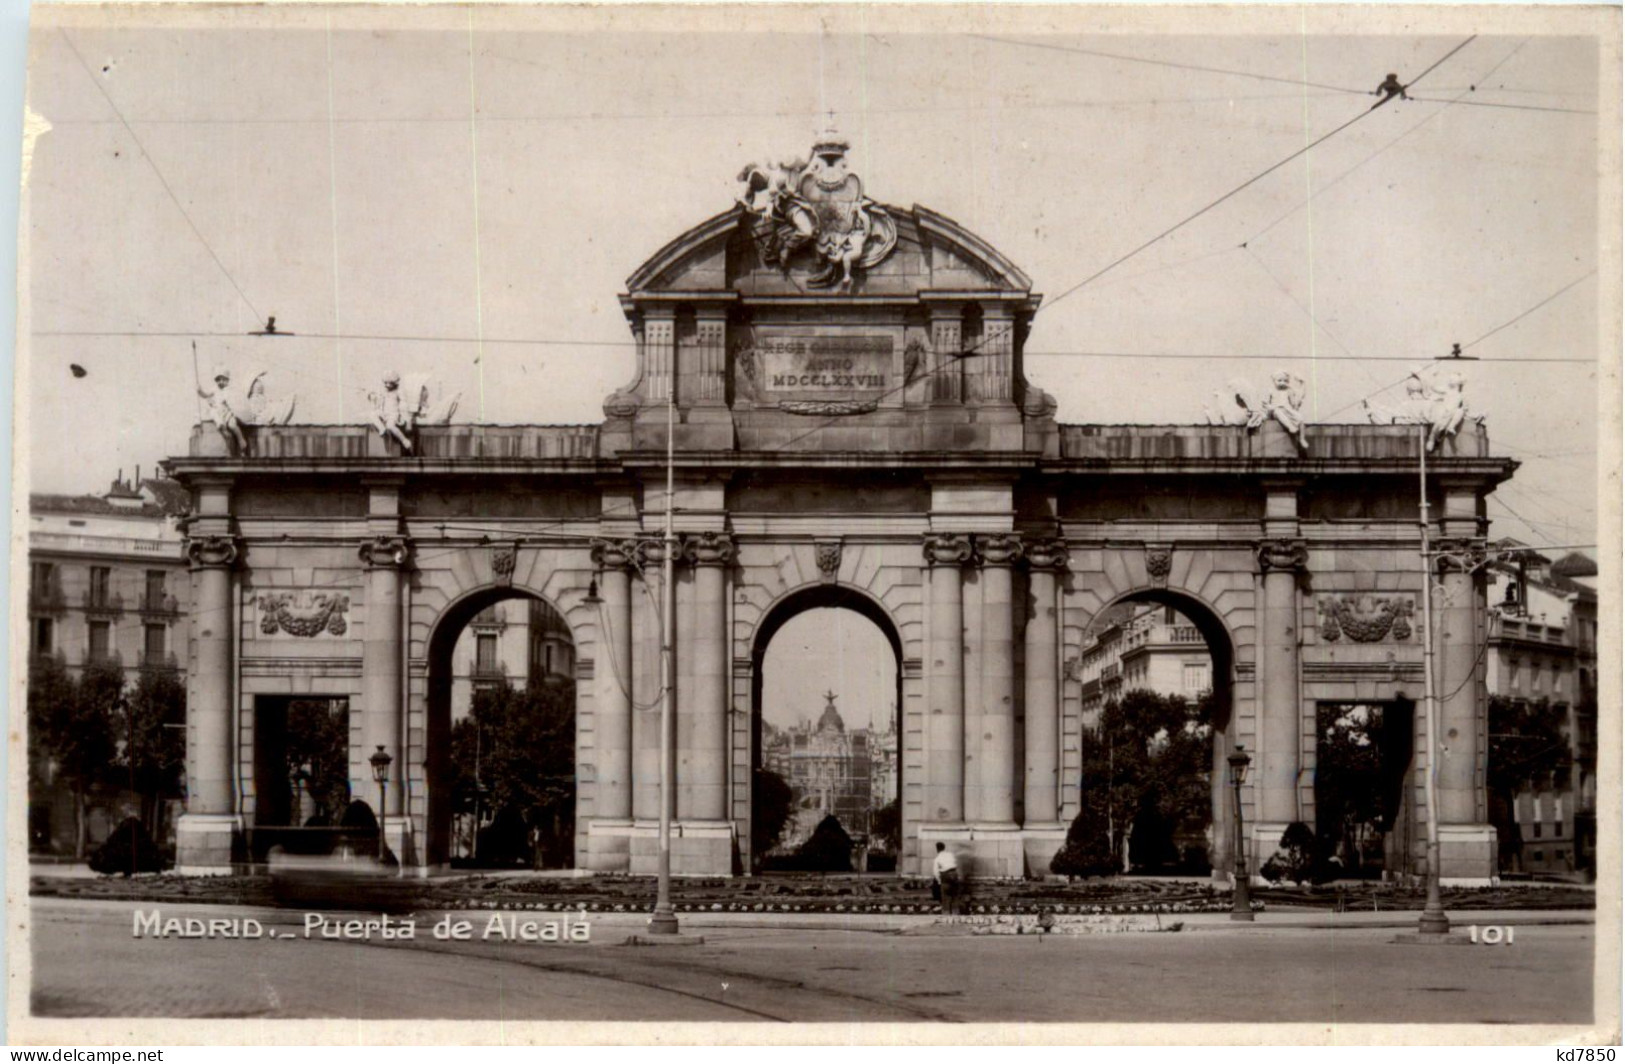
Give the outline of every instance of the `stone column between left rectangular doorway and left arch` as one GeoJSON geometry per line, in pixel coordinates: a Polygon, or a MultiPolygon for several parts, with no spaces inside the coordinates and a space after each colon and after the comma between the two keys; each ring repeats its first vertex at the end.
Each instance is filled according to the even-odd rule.
{"type": "MultiPolygon", "coordinates": [[[[367,759],[382,746],[390,755],[388,786],[384,788],[385,817],[401,815],[401,773],[406,750],[401,749],[401,582],[411,546],[403,536],[374,536],[361,544],[361,560],[367,567],[367,627],[361,642],[361,763],[362,794],[370,806],[377,801],[377,785],[367,770],[367,759]]],[[[405,856],[405,854],[398,854],[405,856]]]]}

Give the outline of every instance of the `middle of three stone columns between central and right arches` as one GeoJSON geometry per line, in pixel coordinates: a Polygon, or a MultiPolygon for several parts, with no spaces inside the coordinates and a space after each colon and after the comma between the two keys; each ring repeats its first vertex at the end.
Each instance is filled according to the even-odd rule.
{"type": "Polygon", "coordinates": [[[1020,552],[1017,536],[977,536],[982,562],[982,715],[980,734],[967,734],[965,749],[980,757],[973,783],[980,793],[977,822],[996,828],[1016,827],[1016,603],[1011,565],[1020,552]]]}

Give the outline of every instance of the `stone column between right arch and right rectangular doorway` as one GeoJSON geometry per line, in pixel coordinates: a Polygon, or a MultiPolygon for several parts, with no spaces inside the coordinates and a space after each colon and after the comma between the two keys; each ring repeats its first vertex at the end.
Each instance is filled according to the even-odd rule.
{"type": "MultiPolygon", "coordinates": [[[[1264,604],[1258,614],[1259,721],[1253,793],[1256,822],[1276,835],[1298,815],[1298,572],[1308,547],[1297,539],[1266,539],[1258,546],[1264,604]]],[[[1268,856],[1268,854],[1261,854],[1268,856]]]]}

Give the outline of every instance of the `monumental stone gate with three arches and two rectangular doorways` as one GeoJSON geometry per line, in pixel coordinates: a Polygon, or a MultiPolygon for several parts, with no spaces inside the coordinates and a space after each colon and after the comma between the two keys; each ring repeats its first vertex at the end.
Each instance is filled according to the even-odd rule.
{"type": "MultiPolygon", "coordinates": [[[[1045,872],[1079,806],[1074,663],[1090,619],[1131,599],[1209,642],[1214,866],[1232,859],[1224,755],[1242,744],[1256,869],[1315,820],[1318,708],[1422,699],[1425,429],[1303,426],[1271,398],[1251,424],[1060,424],[1024,372],[1038,301],[952,219],[863,198],[824,141],[806,171],[752,167],[739,205],[630,276],[635,375],[601,424],[380,404],[370,424],[250,427],[245,450],[200,426],[171,461],[195,504],[182,869],[254,851],[260,708],[297,695],[348,700],[353,794],[377,802],[384,747],[390,848],[444,864],[452,645],[488,606],[538,598],[575,643],[575,863],[652,872],[668,403],[678,872],[752,867],[756,673],[772,632],[821,606],[863,612],[897,655],[900,869],[944,840],[977,874],[1045,872]]],[[[1484,880],[1471,559],[1514,463],[1480,422],[1436,435],[1441,871],[1484,880]]],[[[1422,713],[1415,734],[1412,825],[1422,713]]],[[[1404,838],[1420,861],[1422,832],[1404,838]]]]}

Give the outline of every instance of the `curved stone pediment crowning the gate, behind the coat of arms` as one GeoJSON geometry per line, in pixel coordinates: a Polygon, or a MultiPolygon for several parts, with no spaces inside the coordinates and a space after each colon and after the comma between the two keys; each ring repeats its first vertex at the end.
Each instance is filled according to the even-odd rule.
{"type": "Polygon", "coordinates": [[[655,252],[627,278],[627,299],[751,299],[774,296],[890,297],[930,292],[1027,297],[1032,281],[991,244],[952,218],[925,206],[868,208],[895,232],[878,262],[853,271],[850,288],[819,286],[829,270],[817,236],[770,262],[774,250],[759,236],[760,223],[743,206],[707,218],[655,252]],[[788,266],[788,268],[786,268],[788,266]]]}

